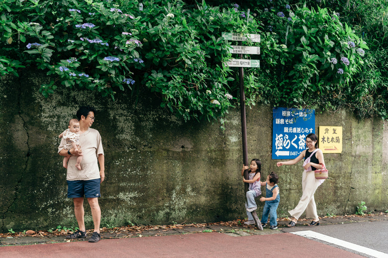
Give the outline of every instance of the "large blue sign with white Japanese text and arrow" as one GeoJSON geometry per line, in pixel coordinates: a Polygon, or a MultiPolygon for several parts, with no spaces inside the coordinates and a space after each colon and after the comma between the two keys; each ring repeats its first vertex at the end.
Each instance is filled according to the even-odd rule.
{"type": "Polygon", "coordinates": [[[272,159],[296,158],[315,134],[315,110],[274,107],[272,132],[272,159]]]}

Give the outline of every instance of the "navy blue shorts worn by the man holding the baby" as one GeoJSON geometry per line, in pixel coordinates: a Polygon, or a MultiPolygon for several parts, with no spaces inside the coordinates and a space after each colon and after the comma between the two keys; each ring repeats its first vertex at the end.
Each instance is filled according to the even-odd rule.
{"type": "Polygon", "coordinates": [[[68,198],[77,198],[83,197],[94,198],[101,197],[100,194],[100,179],[92,180],[67,180],[67,197],[68,198]]]}

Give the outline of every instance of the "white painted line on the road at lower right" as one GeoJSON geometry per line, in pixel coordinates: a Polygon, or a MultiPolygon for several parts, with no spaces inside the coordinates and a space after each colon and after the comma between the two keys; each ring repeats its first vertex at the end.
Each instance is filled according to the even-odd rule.
{"type": "Polygon", "coordinates": [[[349,243],[349,242],[346,242],[346,241],[343,241],[343,240],[340,240],[340,239],[337,239],[334,237],[329,237],[329,236],[326,236],[326,235],[323,235],[323,234],[320,234],[320,233],[317,233],[317,232],[314,232],[311,230],[297,231],[297,232],[290,232],[290,233],[294,234],[294,235],[302,236],[305,238],[310,238],[310,239],[314,238],[314,239],[322,240],[322,241],[327,242],[327,243],[333,243],[335,245],[339,245],[339,246],[345,247],[347,249],[354,250],[356,252],[366,254],[369,256],[373,256],[373,257],[377,257],[377,258],[388,258],[388,254],[386,254],[386,253],[379,252],[379,251],[376,251],[376,250],[373,250],[371,248],[364,247],[364,246],[361,246],[358,244],[349,243]]]}

